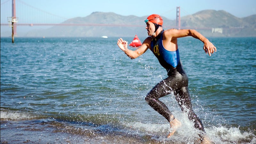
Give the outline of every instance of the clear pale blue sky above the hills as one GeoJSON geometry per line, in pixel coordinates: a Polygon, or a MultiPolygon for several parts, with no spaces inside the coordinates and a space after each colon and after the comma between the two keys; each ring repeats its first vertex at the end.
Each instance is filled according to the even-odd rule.
{"type": "MultiPolygon", "coordinates": [[[[0,0],[1,4],[7,0],[0,0]]],[[[176,19],[202,10],[224,10],[242,18],[256,14],[256,0],[16,0],[67,19],[86,17],[92,12],[114,12],[120,15],[148,16],[157,13],[176,19]]],[[[16,2],[17,3],[17,2],[16,2]]]]}

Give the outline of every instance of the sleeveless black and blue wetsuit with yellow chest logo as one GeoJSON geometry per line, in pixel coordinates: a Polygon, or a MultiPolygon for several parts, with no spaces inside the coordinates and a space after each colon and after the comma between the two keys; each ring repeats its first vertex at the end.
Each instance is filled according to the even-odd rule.
{"type": "Polygon", "coordinates": [[[145,100],[159,114],[164,116],[169,122],[172,121],[172,113],[166,105],[158,100],[159,98],[174,92],[175,98],[183,112],[187,112],[189,120],[193,121],[195,128],[204,132],[201,120],[192,109],[191,99],[188,92],[188,76],[182,68],[179,50],[167,51],[163,45],[162,31],[151,41],[150,50],[155,54],[160,64],[166,69],[168,77],[156,84],[148,92],[145,100]]]}

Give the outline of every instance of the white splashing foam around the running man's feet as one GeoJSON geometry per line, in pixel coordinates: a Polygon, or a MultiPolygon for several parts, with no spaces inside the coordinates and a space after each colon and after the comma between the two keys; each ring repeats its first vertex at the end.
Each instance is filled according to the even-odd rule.
{"type": "MultiPolygon", "coordinates": [[[[177,129],[171,138],[167,139],[166,136],[172,129],[170,124],[152,124],[142,122],[132,122],[126,124],[138,133],[144,133],[145,135],[152,136],[152,139],[157,141],[176,141],[181,143],[195,143],[200,133],[193,126],[193,123],[188,120],[185,114],[177,116],[179,121],[182,123],[181,127],[177,129]]],[[[255,134],[251,132],[243,132],[239,127],[225,127],[225,126],[212,126],[205,127],[206,136],[214,143],[219,144],[230,144],[230,143],[255,143],[255,134]]]]}

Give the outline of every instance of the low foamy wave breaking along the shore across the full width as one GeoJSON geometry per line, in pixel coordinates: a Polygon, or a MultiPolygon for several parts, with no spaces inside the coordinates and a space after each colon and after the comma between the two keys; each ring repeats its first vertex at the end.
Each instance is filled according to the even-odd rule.
{"type": "MultiPolygon", "coordinates": [[[[179,116],[182,126],[171,138],[166,138],[168,133],[172,131],[169,124],[138,122],[131,119],[122,121],[124,118],[121,117],[121,115],[108,114],[51,113],[42,115],[1,108],[1,127],[4,121],[18,120],[19,123],[22,123],[18,125],[36,125],[36,123],[40,123],[37,128],[38,126],[52,127],[54,133],[64,132],[79,135],[86,137],[86,139],[93,139],[95,143],[99,142],[99,137],[106,139],[104,142],[110,143],[113,143],[114,140],[120,141],[120,143],[124,143],[123,140],[128,140],[128,143],[146,143],[148,141],[151,143],[192,144],[197,143],[199,139],[199,131],[193,127],[192,122],[186,118],[186,115],[179,116]]],[[[255,130],[244,131],[239,126],[212,126],[205,128],[205,131],[209,139],[216,144],[256,143],[255,130]]]]}

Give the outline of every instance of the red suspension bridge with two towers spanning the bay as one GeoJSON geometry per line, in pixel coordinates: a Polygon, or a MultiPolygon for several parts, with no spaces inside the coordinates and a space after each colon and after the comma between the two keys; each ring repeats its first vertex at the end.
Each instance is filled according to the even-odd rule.
{"type": "MultiPolygon", "coordinates": [[[[70,24],[62,23],[67,18],[46,12],[31,6],[21,0],[6,0],[1,3],[1,28],[2,26],[12,27],[12,39],[17,36],[17,26],[118,26],[118,27],[145,27],[144,25],[121,25],[121,24],[70,24]],[[18,22],[19,21],[19,22],[18,22]],[[47,21],[47,23],[45,22],[47,21]]],[[[176,26],[173,28],[180,29],[180,7],[176,9],[176,26]]],[[[190,28],[193,29],[193,28],[190,28]]],[[[212,28],[196,28],[212,29],[212,28]]]]}

